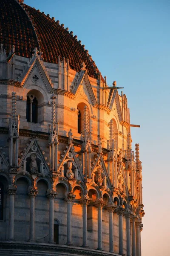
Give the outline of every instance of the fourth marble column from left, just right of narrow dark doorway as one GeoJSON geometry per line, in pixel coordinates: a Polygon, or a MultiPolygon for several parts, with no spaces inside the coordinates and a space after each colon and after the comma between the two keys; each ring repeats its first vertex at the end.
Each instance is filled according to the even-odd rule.
{"type": "Polygon", "coordinates": [[[67,198],[65,200],[67,201],[67,243],[66,245],[72,246],[72,230],[71,230],[71,220],[72,220],[72,202],[75,198],[75,195],[72,192],[68,192],[67,198]]]}

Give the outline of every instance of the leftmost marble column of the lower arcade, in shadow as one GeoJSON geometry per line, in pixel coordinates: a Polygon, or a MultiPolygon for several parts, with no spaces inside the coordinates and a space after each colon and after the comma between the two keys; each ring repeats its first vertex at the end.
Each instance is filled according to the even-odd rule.
{"type": "Polygon", "coordinates": [[[8,241],[15,241],[14,239],[14,195],[17,192],[16,185],[9,185],[7,193],[9,195],[9,236],[8,241]]]}

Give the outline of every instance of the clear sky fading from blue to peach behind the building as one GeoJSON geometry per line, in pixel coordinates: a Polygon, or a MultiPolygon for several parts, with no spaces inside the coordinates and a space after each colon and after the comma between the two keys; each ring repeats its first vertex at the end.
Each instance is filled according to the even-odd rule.
{"type": "Polygon", "coordinates": [[[143,166],[142,256],[170,256],[170,0],[24,0],[85,44],[124,87],[143,166]],[[168,75],[169,74],[169,75],[168,75]]]}

